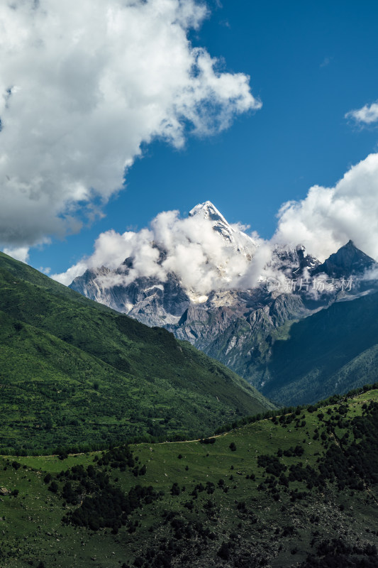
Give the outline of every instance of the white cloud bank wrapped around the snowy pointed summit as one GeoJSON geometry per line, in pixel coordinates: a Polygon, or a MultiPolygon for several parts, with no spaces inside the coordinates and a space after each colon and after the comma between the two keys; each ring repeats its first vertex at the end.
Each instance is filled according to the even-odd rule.
{"type": "Polygon", "coordinates": [[[228,226],[236,233],[233,244],[214,231],[211,222],[200,214],[182,219],[178,211],[162,212],[152,219],[148,229],[123,234],[111,230],[100,234],[89,258],[83,258],[67,272],[52,275],[52,278],[68,285],[88,268],[105,266],[114,271],[131,257],[133,268],[118,275],[101,275],[103,285],[127,285],[140,277],[165,281],[174,273],[184,288],[197,293],[237,287],[240,275],[250,269],[250,261],[246,254],[235,253],[235,243],[243,240],[244,251],[249,250],[250,256],[255,255],[260,243],[256,236],[251,239],[240,233],[240,226],[228,226]]]}

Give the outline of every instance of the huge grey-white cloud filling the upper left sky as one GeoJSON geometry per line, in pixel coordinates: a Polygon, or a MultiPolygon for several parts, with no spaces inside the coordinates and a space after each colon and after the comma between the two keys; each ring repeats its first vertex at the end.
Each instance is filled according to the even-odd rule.
{"type": "Polygon", "coordinates": [[[1,246],[79,231],[143,143],[179,148],[261,107],[248,76],[189,43],[206,16],[196,0],[1,4],[1,246]]]}

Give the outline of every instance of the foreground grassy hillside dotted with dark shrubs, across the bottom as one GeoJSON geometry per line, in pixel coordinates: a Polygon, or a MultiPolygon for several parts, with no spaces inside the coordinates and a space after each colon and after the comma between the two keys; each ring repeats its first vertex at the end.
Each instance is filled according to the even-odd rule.
{"type": "Polygon", "coordinates": [[[211,439],[0,458],[6,568],[377,567],[378,391],[211,439]]]}

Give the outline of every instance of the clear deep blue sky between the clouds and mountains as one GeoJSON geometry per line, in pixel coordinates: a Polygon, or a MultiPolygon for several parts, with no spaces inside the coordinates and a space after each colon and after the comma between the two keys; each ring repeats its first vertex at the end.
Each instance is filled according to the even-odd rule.
{"type": "Polygon", "coordinates": [[[345,119],[378,98],[378,4],[374,1],[222,0],[190,32],[193,45],[224,58],[223,69],[250,75],[262,109],[214,136],[187,136],[184,148],[143,144],[126,189],[105,216],[77,234],[30,249],[29,263],[65,271],[91,254],[103,231],[141,229],[161,211],[182,214],[211,200],[229,222],[265,239],[283,202],[312,185],[335,185],[350,166],[377,152],[378,130],[345,119]]]}

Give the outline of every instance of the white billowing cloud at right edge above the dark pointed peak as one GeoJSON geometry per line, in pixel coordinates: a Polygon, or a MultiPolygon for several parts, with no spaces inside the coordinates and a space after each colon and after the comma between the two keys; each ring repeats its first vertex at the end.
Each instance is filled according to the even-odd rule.
{"type": "Polygon", "coordinates": [[[334,187],[314,185],[279,211],[274,241],[304,244],[324,260],[352,239],[378,259],[378,153],[352,166],[334,187]]]}

